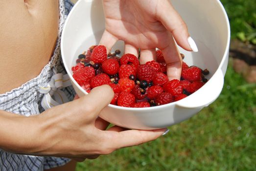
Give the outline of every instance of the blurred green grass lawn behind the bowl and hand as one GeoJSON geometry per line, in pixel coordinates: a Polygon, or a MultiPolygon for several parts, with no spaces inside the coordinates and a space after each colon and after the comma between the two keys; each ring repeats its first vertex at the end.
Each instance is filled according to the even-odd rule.
{"type": "MultiPolygon", "coordinates": [[[[221,2],[232,39],[256,33],[256,0],[221,2]]],[[[256,171],[255,121],[256,84],[235,73],[230,59],[222,93],[209,107],[153,142],[85,160],[76,171],[256,171]]]]}

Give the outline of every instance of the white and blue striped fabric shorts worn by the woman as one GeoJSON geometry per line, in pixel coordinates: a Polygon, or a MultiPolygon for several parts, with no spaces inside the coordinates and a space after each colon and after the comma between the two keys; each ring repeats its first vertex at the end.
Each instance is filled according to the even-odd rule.
{"type": "MultiPolygon", "coordinates": [[[[53,56],[36,78],[10,92],[0,94],[0,110],[23,116],[31,116],[44,111],[41,101],[45,94],[40,91],[40,87],[45,87],[56,72],[63,74],[66,72],[60,58],[60,37],[65,19],[72,6],[69,0],[59,0],[59,35],[53,56]]],[[[71,86],[58,87],[58,89],[63,91],[69,100],[73,99],[74,90],[71,86]]],[[[0,171],[44,171],[63,166],[69,161],[68,158],[21,155],[0,149],[0,171]]]]}

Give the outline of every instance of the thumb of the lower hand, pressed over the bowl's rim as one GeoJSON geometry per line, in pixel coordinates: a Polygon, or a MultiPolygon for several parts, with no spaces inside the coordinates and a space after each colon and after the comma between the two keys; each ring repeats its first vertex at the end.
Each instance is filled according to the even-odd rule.
{"type": "Polygon", "coordinates": [[[81,106],[88,107],[91,112],[98,115],[99,112],[110,104],[114,97],[114,92],[109,85],[101,85],[93,88],[88,95],[85,95],[77,101],[81,106]]]}

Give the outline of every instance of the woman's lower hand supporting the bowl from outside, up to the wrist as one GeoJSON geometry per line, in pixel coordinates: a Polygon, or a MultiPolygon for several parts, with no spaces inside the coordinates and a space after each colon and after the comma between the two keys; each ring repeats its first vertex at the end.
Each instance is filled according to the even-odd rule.
{"type": "Polygon", "coordinates": [[[30,153],[83,161],[154,140],[166,130],[127,130],[117,126],[105,130],[109,123],[98,115],[113,96],[111,87],[102,85],[84,97],[36,116],[40,122],[40,143],[30,153]]]}

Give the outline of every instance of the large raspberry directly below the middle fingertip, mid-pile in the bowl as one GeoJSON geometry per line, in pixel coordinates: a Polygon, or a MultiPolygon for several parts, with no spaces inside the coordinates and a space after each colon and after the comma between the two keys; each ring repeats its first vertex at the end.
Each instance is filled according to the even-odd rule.
{"type": "Polygon", "coordinates": [[[141,64],[138,67],[138,78],[145,80],[148,83],[152,81],[153,76],[156,74],[156,69],[148,64],[141,64]]]}

